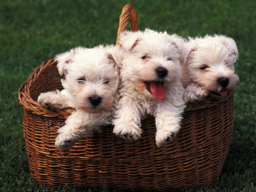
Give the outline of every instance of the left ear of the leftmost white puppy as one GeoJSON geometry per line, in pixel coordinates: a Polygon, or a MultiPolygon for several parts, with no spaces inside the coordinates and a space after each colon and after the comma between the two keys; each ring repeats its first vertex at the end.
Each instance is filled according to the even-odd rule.
{"type": "Polygon", "coordinates": [[[55,60],[58,61],[57,68],[61,76],[67,74],[67,65],[73,62],[74,51],[74,49],[71,49],[56,56],[55,60]]]}

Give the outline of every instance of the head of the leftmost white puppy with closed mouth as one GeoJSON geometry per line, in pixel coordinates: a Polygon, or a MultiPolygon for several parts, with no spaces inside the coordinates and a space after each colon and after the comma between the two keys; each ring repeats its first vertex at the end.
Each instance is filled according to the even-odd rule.
{"type": "Polygon", "coordinates": [[[63,88],[74,95],[77,108],[88,113],[111,109],[118,88],[116,62],[119,48],[99,46],[78,47],[56,56],[63,88]]]}

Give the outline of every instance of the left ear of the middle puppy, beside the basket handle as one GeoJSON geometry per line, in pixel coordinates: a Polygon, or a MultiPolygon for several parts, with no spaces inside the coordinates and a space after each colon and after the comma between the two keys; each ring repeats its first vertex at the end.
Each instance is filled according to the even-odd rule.
{"type": "Polygon", "coordinates": [[[136,45],[138,45],[140,38],[136,32],[124,31],[120,35],[119,42],[120,45],[122,45],[122,49],[125,51],[131,51],[136,45]]]}

